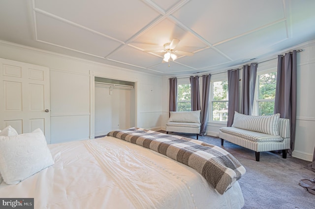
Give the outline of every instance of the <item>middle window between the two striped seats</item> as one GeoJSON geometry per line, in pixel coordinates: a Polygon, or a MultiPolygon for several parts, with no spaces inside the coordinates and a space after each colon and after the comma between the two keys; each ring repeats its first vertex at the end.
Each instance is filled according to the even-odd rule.
{"type": "Polygon", "coordinates": [[[228,83],[212,82],[212,120],[227,121],[228,83]]]}

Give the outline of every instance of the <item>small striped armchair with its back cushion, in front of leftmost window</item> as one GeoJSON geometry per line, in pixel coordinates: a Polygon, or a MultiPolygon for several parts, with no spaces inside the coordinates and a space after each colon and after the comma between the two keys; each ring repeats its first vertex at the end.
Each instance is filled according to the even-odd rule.
{"type": "Polygon", "coordinates": [[[196,134],[198,139],[200,125],[200,110],[170,112],[170,117],[166,123],[166,133],[191,133],[196,134]]]}

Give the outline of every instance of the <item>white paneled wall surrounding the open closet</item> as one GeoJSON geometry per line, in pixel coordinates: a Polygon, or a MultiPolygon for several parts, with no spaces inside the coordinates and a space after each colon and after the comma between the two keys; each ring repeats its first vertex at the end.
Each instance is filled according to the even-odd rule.
{"type": "Polygon", "coordinates": [[[160,76],[4,41],[0,41],[0,57],[50,68],[51,143],[94,137],[94,130],[90,130],[90,98],[94,98],[92,75],[135,82],[137,109],[132,114],[136,114],[136,126],[148,129],[159,129],[161,126],[160,76]]]}

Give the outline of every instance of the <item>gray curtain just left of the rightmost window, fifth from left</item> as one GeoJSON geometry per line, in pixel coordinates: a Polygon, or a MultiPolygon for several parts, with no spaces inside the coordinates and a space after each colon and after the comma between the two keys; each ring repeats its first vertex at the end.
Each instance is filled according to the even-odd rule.
{"type": "Polygon", "coordinates": [[[250,116],[252,115],[252,105],[254,102],[257,65],[257,63],[252,63],[251,66],[243,66],[242,105],[240,112],[250,116]]]}

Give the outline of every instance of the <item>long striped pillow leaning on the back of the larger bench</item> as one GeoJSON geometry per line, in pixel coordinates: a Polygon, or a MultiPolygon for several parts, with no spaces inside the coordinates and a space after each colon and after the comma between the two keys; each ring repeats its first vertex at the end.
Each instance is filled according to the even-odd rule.
{"type": "Polygon", "coordinates": [[[232,127],[279,136],[280,113],[271,116],[248,116],[235,111],[232,127]]]}

